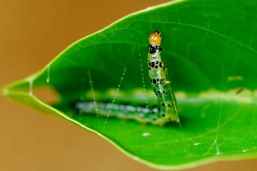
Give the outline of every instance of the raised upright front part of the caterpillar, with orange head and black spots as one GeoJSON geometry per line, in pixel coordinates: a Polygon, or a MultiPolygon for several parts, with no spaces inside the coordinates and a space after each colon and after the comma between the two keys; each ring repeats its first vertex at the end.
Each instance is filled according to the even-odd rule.
{"type": "Polygon", "coordinates": [[[148,71],[153,91],[158,98],[160,112],[158,112],[153,124],[163,125],[170,121],[178,122],[176,112],[176,99],[171,91],[170,81],[167,79],[167,64],[162,62],[160,53],[161,33],[155,31],[149,36],[148,45],[148,71]]]}

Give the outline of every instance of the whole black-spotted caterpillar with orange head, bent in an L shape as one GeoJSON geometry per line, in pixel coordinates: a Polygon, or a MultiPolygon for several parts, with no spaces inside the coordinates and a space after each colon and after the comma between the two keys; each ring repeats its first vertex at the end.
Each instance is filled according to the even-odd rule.
{"type": "Polygon", "coordinates": [[[72,103],[79,113],[95,113],[102,116],[115,116],[123,119],[133,119],[140,123],[164,125],[167,122],[178,122],[176,99],[167,79],[167,64],[161,60],[161,32],[155,31],[149,36],[148,73],[153,91],[157,96],[157,107],[132,106],[114,102],[76,102],[72,103]]]}

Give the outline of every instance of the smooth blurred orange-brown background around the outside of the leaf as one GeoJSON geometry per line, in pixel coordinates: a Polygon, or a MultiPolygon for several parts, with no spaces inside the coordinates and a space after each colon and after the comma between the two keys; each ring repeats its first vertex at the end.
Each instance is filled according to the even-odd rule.
{"type": "MultiPolygon", "coordinates": [[[[75,40],[169,0],[0,0],[0,87],[43,68],[75,40]]],[[[58,117],[0,97],[0,171],[155,171],[58,117]]],[[[187,171],[254,171],[257,160],[187,171]]]]}

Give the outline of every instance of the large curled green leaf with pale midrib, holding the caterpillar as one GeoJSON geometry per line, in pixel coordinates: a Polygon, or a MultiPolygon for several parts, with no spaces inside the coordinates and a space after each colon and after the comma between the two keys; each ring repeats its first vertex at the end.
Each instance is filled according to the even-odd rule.
{"type": "Polygon", "coordinates": [[[76,41],[3,93],[61,115],[158,169],[257,158],[256,9],[256,0],[180,0],[151,7],[76,41]],[[161,55],[180,123],[159,127],[100,116],[96,110],[78,113],[76,101],[93,99],[97,105],[157,104],[146,63],[154,30],[162,31],[161,55]],[[45,86],[58,92],[58,103],[35,96],[45,86]]]}

